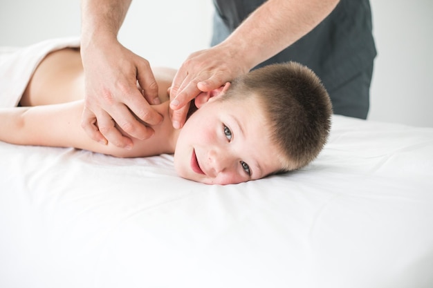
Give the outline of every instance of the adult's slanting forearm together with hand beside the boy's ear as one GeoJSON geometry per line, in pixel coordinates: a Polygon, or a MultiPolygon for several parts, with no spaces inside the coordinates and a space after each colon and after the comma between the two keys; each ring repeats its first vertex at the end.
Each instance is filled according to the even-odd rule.
{"type": "Polygon", "coordinates": [[[264,1],[221,44],[190,55],[174,77],[170,93],[174,128],[185,123],[188,103],[201,91],[208,92],[248,73],[295,43],[329,15],[338,2],[264,1]]]}

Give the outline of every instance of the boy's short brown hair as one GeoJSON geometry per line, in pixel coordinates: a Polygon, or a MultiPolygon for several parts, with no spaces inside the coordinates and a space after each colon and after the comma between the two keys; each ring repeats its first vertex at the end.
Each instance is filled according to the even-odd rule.
{"type": "Polygon", "coordinates": [[[252,70],[234,79],[223,98],[251,95],[263,104],[266,128],[286,160],[283,171],[300,169],[317,157],[331,129],[332,105],[311,69],[292,61],[252,70]]]}

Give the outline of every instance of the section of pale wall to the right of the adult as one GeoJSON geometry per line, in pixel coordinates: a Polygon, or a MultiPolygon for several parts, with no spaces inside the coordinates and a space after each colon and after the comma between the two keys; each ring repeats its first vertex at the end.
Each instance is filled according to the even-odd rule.
{"type": "Polygon", "coordinates": [[[433,1],[371,0],[378,57],[369,119],[433,127],[433,1]]]}

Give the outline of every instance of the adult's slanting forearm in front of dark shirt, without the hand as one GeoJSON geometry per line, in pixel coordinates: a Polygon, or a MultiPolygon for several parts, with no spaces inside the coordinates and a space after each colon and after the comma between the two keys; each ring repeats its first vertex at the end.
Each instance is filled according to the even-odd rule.
{"type": "Polygon", "coordinates": [[[253,68],[313,30],[338,2],[268,0],[220,45],[253,68]]]}

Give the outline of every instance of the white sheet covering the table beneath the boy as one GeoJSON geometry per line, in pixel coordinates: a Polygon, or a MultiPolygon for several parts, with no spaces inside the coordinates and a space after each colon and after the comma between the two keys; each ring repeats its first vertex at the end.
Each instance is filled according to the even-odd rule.
{"type": "Polygon", "coordinates": [[[433,287],[433,128],[333,117],[302,171],[0,142],[0,287],[433,287]]]}

